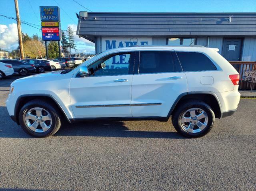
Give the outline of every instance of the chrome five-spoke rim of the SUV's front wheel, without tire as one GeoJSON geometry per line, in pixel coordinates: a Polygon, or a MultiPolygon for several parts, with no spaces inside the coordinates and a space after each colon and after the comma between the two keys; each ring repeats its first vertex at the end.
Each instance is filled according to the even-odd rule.
{"type": "Polygon", "coordinates": [[[34,132],[46,132],[52,126],[52,116],[46,109],[31,108],[25,115],[25,124],[34,132]]]}

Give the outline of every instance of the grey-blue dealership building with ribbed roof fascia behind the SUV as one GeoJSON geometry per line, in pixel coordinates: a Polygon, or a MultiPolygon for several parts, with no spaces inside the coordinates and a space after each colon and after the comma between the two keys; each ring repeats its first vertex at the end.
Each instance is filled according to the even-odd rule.
{"type": "Polygon", "coordinates": [[[131,45],[202,45],[228,61],[256,61],[256,13],[80,12],[77,35],[95,51],[131,45]]]}

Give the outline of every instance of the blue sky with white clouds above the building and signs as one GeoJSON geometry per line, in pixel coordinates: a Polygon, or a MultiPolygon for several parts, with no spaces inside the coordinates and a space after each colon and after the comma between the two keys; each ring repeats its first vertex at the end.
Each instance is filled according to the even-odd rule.
{"type": "MultiPolygon", "coordinates": [[[[92,12],[256,12],[256,0],[18,0],[22,32],[42,35],[39,6],[60,7],[61,28],[76,31],[79,11],[92,12]],[[76,3],[76,2],[77,3],[76,3]],[[80,6],[79,4],[82,6],[80,6]],[[88,10],[86,10],[86,8],[88,10]]],[[[0,0],[0,14],[16,18],[14,0],[0,0]]],[[[94,53],[94,43],[74,32],[77,51],[94,53]]],[[[12,50],[18,44],[16,20],[0,16],[0,47],[12,50]]]]}

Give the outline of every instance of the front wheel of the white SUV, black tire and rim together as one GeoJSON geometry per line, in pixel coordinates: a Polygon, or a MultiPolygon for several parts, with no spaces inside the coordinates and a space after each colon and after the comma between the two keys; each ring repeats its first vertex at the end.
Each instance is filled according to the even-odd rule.
{"type": "Polygon", "coordinates": [[[19,112],[19,122],[22,129],[33,137],[52,136],[61,126],[57,109],[42,100],[26,103],[19,112]]]}

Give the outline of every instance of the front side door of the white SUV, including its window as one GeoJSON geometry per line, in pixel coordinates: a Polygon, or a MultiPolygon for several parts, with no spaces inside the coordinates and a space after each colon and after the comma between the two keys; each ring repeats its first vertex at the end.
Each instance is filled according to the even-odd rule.
{"type": "Polygon", "coordinates": [[[70,82],[70,100],[75,117],[131,117],[134,52],[107,55],[88,68],[91,75],[80,77],[78,73],[70,82]]]}

